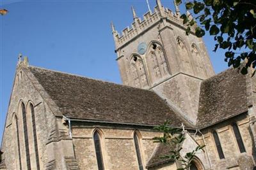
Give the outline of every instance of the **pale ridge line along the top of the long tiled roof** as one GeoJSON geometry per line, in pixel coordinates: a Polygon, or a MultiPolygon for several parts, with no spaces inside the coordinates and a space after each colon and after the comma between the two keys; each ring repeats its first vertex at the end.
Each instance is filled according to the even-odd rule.
{"type": "Polygon", "coordinates": [[[148,89],[141,89],[141,88],[138,88],[138,87],[131,87],[129,85],[119,84],[119,83],[115,83],[115,82],[111,82],[111,81],[100,80],[100,79],[97,79],[97,78],[89,78],[89,77],[82,76],[82,75],[79,75],[79,74],[67,73],[67,72],[63,72],[63,71],[56,71],[54,69],[46,69],[44,67],[38,67],[38,66],[28,66],[28,67],[36,68],[36,69],[44,69],[46,71],[52,71],[52,72],[55,72],[55,73],[68,74],[70,76],[77,76],[77,77],[80,77],[80,78],[87,78],[87,79],[95,80],[95,81],[101,81],[102,83],[110,83],[110,84],[113,84],[113,85],[118,85],[118,86],[121,86],[121,87],[127,87],[127,88],[130,88],[130,89],[140,89],[140,90],[146,90],[146,91],[152,92],[151,90],[148,90],[148,89]]]}

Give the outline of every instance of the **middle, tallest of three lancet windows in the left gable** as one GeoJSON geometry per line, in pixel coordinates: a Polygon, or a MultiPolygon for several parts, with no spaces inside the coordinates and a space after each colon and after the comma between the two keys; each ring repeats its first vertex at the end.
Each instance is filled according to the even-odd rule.
{"type": "Polygon", "coordinates": [[[26,162],[28,170],[31,169],[30,157],[29,157],[29,142],[28,142],[28,127],[26,119],[26,108],[24,103],[21,104],[22,107],[22,120],[23,120],[23,131],[24,131],[24,141],[25,141],[25,152],[26,152],[26,162]]]}

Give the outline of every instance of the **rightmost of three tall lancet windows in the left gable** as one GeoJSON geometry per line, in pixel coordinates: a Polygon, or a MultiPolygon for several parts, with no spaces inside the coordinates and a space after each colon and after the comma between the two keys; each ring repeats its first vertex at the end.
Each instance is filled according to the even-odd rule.
{"type": "Polygon", "coordinates": [[[32,104],[30,104],[30,110],[31,110],[31,119],[32,119],[32,127],[33,127],[34,145],[35,145],[36,167],[37,169],[40,169],[38,145],[37,145],[37,138],[36,138],[35,110],[32,104]]]}

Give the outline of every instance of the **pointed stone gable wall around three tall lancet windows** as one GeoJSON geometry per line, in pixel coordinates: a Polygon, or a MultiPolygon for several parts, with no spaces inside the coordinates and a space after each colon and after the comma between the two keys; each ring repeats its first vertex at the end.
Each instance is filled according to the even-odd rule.
{"type": "Polygon", "coordinates": [[[27,126],[28,126],[28,139],[29,139],[29,157],[31,161],[31,169],[36,169],[35,159],[35,144],[33,138],[33,129],[31,122],[31,112],[29,111],[29,104],[35,106],[35,122],[36,122],[36,137],[38,143],[38,154],[40,159],[40,167],[45,168],[47,164],[46,143],[49,138],[50,131],[54,127],[54,115],[52,111],[42,99],[38,90],[35,89],[33,84],[26,73],[17,69],[15,74],[15,81],[13,83],[13,91],[10,99],[8,113],[6,115],[6,124],[4,127],[3,141],[1,150],[4,152],[3,157],[7,169],[19,169],[19,154],[17,146],[17,134],[15,115],[18,119],[19,126],[19,143],[22,169],[26,169],[26,154],[24,146],[24,131],[22,122],[21,102],[26,106],[27,111],[27,126]]]}

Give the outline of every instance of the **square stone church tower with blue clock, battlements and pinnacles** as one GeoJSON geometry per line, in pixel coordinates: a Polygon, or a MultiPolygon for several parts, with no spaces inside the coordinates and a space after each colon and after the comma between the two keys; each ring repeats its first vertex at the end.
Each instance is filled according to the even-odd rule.
{"type": "Polygon", "coordinates": [[[178,6],[173,13],[160,0],[156,3],[143,20],[132,8],[134,22],[121,36],[111,24],[122,81],[153,90],[195,124],[200,82],[214,75],[211,61],[202,38],[193,31],[186,36],[178,6]]]}

